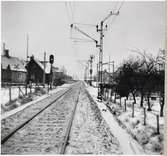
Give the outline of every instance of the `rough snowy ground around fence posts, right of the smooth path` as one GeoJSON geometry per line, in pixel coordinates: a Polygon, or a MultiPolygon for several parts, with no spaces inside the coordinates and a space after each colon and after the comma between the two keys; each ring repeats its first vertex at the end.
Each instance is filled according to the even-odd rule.
{"type": "MultiPolygon", "coordinates": [[[[119,100],[117,100],[118,102],[119,100]]],[[[116,115],[121,125],[125,125],[126,129],[132,136],[143,146],[148,154],[163,154],[163,141],[164,141],[164,118],[159,118],[160,134],[157,134],[157,119],[159,115],[158,101],[152,102],[152,111],[146,111],[146,125],[144,125],[144,110],[140,108],[140,99],[138,98],[137,104],[134,106],[134,118],[132,118],[132,102],[127,100],[127,112],[124,112],[124,106],[119,107],[119,104],[110,103],[110,108],[115,107],[115,111],[119,111],[116,115]]],[[[144,107],[147,108],[146,102],[144,107]]]]}

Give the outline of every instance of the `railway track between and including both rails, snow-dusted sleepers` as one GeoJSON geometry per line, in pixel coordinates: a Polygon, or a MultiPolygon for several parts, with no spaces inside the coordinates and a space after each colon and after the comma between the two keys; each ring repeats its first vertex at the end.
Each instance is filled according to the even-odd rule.
{"type": "Polygon", "coordinates": [[[75,84],[1,140],[2,154],[64,154],[80,94],[75,84]]]}

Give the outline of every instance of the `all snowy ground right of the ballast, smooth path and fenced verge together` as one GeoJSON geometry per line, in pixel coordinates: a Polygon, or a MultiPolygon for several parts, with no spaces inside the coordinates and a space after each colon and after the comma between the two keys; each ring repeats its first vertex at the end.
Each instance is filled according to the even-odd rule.
{"type": "MultiPolygon", "coordinates": [[[[97,88],[87,86],[87,90],[101,110],[102,116],[110,126],[111,132],[117,137],[125,154],[162,154],[164,119],[160,118],[160,134],[156,134],[156,115],[158,106],[152,112],[147,112],[146,126],[143,125],[143,109],[135,104],[135,114],[132,118],[132,101],[127,101],[127,111],[111,102],[97,101],[97,88]],[[107,109],[106,104],[110,109],[107,109]],[[110,111],[109,111],[110,110],[110,111]],[[112,113],[116,114],[113,115],[112,113]]],[[[120,100],[117,100],[119,102],[120,100]]]]}

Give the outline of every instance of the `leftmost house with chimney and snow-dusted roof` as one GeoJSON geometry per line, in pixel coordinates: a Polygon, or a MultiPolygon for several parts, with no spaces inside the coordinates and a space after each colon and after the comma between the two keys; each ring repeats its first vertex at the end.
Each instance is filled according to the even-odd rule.
{"type": "Polygon", "coordinates": [[[24,60],[9,55],[9,50],[4,49],[1,55],[1,82],[25,83],[26,69],[24,60]]]}

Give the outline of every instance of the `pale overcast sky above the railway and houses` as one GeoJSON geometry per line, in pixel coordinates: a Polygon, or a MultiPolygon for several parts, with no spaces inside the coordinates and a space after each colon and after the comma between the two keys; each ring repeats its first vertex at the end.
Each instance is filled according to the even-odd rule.
{"type": "MultiPolygon", "coordinates": [[[[85,38],[71,31],[71,23],[97,25],[110,11],[117,11],[121,2],[2,2],[2,42],[10,55],[26,58],[26,33],[29,34],[29,55],[43,60],[46,51],[55,56],[55,65],[65,66],[68,73],[83,77],[84,60],[90,54],[98,60],[98,51],[93,42],[72,42],[70,37],[85,38]]],[[[120,14],[112,23],[107,21],[108,31],[104,37],[104,62],[110,55],[118,65],[129,55],[129,48],[145,49],[156,54],[164,48],[165,38],[164,2],[125,1],[120,14]]],[[[94,26],[81,26],[83,31],[99,40],[94,26]]],[[[94,68],[95,71],[96,68],[94,68]]]]}

